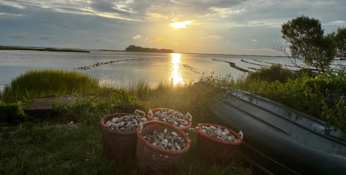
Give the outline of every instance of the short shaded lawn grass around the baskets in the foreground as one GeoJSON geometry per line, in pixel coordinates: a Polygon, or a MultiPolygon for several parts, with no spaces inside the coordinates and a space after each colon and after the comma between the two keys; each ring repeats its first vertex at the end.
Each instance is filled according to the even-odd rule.
{"type": "MultiPolygon", "coordinates": [[[[18,125],[0,136],[0,174],[143,174],[134,162],[109,160],[102,155],[99,122],[54,126],[55,123],[18,125]]],[[[197,155],[197,133],[189,131],[191,147],[176,167],[177,174],[252,175],[251,167],[235,157],[226,168],[201,164],[197,155]]]]}

